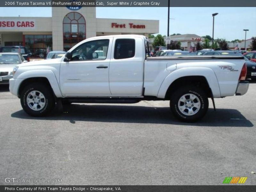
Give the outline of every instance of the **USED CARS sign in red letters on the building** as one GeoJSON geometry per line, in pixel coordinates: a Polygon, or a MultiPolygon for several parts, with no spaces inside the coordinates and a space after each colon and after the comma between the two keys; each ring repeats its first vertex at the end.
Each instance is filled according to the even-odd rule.
{"type": "Polygon", "coordinates": [[[34,20],[0,20],[0,29],[35,28],[34,20]]]}

